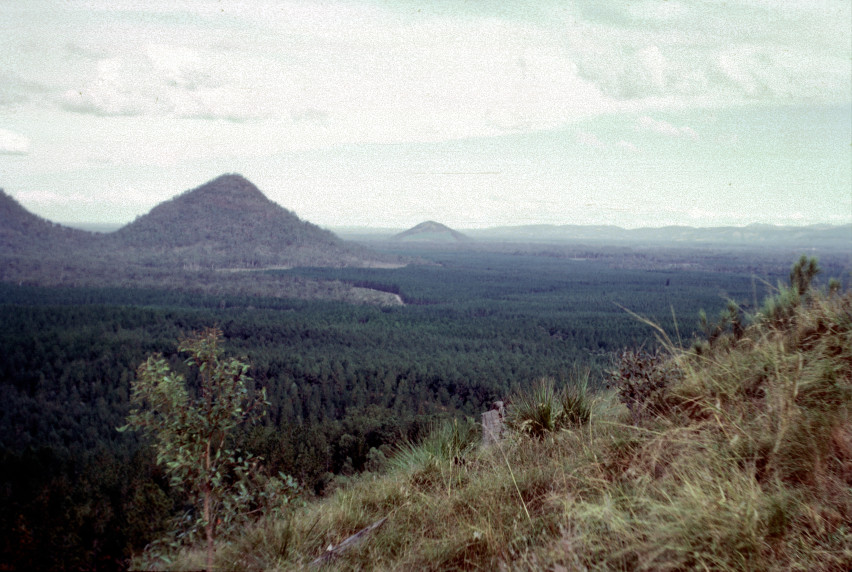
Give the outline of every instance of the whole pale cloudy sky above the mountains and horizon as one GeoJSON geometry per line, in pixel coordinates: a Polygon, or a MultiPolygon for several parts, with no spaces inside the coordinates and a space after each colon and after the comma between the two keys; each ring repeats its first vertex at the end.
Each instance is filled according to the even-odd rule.
{"type": "Polygon", "coordinates": [[[323,227],[852,223],[849,0],[0,0],[0,188],[323,227]]]}

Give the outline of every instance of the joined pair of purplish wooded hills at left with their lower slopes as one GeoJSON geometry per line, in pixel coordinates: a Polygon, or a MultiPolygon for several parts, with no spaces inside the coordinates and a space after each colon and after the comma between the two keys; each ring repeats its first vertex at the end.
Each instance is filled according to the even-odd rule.
{"type": "Polygon", "coordinates": [[[110,233],[63,227],[0,191],[0,281],[119,286],[399,305],[336,280],[263,272],[295,266],[403,266],[402,258],[302,221],[239,175],[223,175],[110,233]]]}

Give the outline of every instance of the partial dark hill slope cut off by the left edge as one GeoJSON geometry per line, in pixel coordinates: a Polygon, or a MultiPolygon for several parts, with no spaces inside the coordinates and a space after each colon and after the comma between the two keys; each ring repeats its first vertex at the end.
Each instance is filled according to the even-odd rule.
{"type": "Polygon", "coordinates": [[[89,245],[92,233],[64,227],[34,215],[0,189],[0,249],[7,254],[57,254],[89,245]]]}

